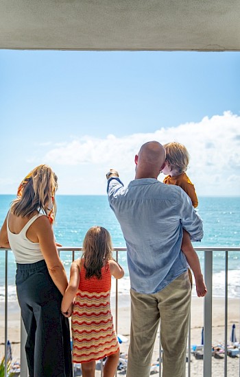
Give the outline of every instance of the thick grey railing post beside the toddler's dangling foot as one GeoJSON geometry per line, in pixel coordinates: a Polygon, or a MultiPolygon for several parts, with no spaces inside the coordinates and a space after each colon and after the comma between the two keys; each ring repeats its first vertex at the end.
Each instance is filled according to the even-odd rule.
{"type": "Polygon", "coordinates": [[[204,275],[208,293],[204,297],[204,377],[212,376],[213,252],[204,252],[204,275]]]}

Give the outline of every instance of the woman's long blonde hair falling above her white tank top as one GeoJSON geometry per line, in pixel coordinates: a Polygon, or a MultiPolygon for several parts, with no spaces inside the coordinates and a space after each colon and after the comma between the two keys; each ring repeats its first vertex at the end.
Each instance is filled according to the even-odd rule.
{"type": "Polygon", "coordinates": [[[52,210],[53,218],[55,218],[57,189],[57,175],[48,165],[39,165],[30,173],[30,178],[23,186],[21,196],[12,202],[11,212],[16,216],[29,217],[35,211],[42,210],[47,215],[49,210],[52,210]]]}

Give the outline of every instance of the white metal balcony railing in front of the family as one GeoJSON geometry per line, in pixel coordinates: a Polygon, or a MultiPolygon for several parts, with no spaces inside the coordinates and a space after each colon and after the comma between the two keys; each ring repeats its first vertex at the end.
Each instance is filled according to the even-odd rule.
{"type": "MultiPolygon", "coordinates": [[[[116,260],[119,258],[119,252],[126,251],[125,247],[115,247],[116,260]]],[[[204,278],[208,294],[204,297],[204,377],[212,376],[212,307],[213,307],[213,252],[225,253],[225,319],[224,319],[224,348],[227,350],[228,343],[228,253],[240,252],[240,247],[195,247],[196,252],[204,252],[204,278]]],[[[8,297],[8,250],[0,249],[5,252],[5,297],[8,297]]],[[[58,247],[58,252],[71,252],[72,260],[75,259],[75,252],[81,252],[82,247],[58,247]]],[[[118,328],[118,281],[116,280],[116,297],[115,297],[115,330],[118,328]]],[[[240,297],[239,297],[240,302],[240,297]]],[[[27,377],[27,361],[25,357],[26,332],[21,320],[21,377],[27,377]]],[[[5,360],[8,355],[8,298],[5,299],[5,360]]],[[[191,326],[189,324],[189,341],[188,341],[188,359],[191,361],[191,326]]],[[[161,376],[161,345],[159,346],[159,376],[161,376]]],[[[227,352],[224,354],[224,377],[227,376],[227,352]]],[[[5,368],[5,377],[7,372],[5,368]]],[[[188,377],[191,377],[191,363],[188,363],[188,377]]],[[[240,357],[239,357],[239,377],[240,377],[240,357]]]]}

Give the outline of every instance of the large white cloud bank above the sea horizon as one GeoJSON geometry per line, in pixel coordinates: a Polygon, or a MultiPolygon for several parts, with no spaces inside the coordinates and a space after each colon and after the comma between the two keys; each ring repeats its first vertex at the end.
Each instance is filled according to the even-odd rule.
{"type": "MultiPolygon", "coordinates": [[[[56,165],[56,171],[67,167],[69,179],[73,171],[77,172],[74,188],[67,186],[62,176],[64,193],[102,194],[106,192],[104,175],[111,167],[119,170],[125,183],[134,178],[134,155],[143,143],[151,140],[186,145],[191,156],[188,174],[199,196],[240,195],[240,117],[231,112],[152,133],[121,138],[114,134],[106,138],[75,138],[49,150],[44,160],[56,165]],[[93,175],[95,185],[90,184],[93,175]]],[[[163,180],[163,176],[159,179],[163,180]]]]}

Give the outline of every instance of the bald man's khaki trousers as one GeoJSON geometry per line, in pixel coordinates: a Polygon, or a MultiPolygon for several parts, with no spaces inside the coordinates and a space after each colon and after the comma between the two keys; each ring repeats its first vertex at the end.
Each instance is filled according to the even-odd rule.
{"type": "Polygon", "coordinates": [[[131,335],[127,377],[148,377],[160,321],[163,377],[184,377],[191,308],[189,272],[182,273],[158,293],[131,289],[131,335]]]}

